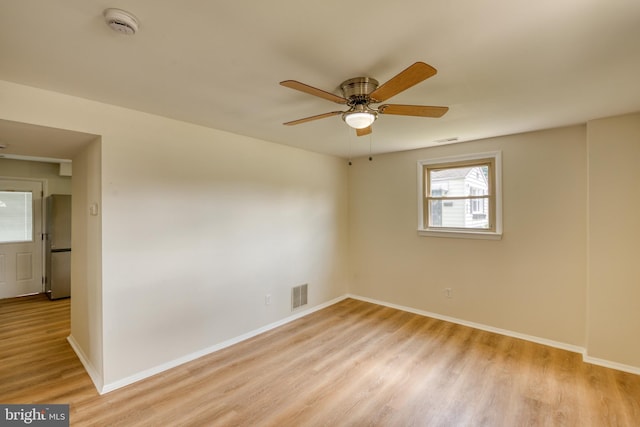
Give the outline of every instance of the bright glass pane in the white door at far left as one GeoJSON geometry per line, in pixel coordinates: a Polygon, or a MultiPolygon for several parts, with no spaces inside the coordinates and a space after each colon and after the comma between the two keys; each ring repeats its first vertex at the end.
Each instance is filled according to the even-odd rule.
{"type": "Polygon", "coordinates": [[[0,191],[0,243],[33,240],[30,192],[0,191]]]}

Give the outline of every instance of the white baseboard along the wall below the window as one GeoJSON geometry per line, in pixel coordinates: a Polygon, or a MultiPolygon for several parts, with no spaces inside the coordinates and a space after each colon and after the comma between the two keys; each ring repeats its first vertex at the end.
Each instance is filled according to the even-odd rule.
{"type": "Polygon", "coordinates": [[[576,345],[563,343],[560,341],[553,341],[546,338],[536,337],[535,335],[521,334],[520,332],[510,331],[508,329],[496,328],[493,326],[483,325],[482,323],[469,322],[467,320],[457,319],[455,317],[444,316],[442,314],[433,313],[430,311],[418,310],[403,305],[391,304],[384,301],[379,301],[371,298],[361,297],[359,295],[348,295],[349,298],[357,299],[364,302],[370,302],[372,304],[383,305],[385,307],[395,308],[396,310],[406,311],[408,313],[418,314],[420,316],[432,317],[438,320],[444,320],[445,322],[456,323],[462,326],[468,326],[470,328],[479,329],[481,331],[493,332],[495,334],[504,335],[507,337],[518,338],[525,341],[531,341],[537,344],[546,345],[549,347],[559,348],[561,350],[567,350],[572,353],[585,353],[585,349],[576,345]]]}

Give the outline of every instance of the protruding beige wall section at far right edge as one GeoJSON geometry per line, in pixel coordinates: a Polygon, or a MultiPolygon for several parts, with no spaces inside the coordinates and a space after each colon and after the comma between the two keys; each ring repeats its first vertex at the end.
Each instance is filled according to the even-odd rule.
{"type": "Polygon", "coordinates": [[[640,114],[588,124],[588,355],[640,367],[640,114]]]}

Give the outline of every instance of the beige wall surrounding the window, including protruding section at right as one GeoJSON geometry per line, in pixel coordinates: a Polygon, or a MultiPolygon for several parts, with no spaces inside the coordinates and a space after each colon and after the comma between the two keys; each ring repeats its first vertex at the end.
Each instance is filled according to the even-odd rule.
{"type": "Polygon", "coordinates": [[[357,159],[350,291],[640,373],[638,163],[640,114],[357,159]],[[494,150],[503,155],[502,240],[419,237],[416,162],[494,150]]]}

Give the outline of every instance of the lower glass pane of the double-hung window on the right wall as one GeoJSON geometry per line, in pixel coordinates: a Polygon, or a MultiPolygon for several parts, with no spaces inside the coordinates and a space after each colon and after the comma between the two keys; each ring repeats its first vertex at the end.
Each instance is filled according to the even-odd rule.
{"type": "Polygon", "coordinates": [[[489,229],[488,205],[488,199],[429,200],[429,227],[489,229]]]}

